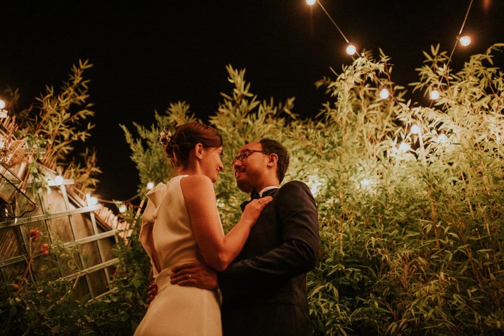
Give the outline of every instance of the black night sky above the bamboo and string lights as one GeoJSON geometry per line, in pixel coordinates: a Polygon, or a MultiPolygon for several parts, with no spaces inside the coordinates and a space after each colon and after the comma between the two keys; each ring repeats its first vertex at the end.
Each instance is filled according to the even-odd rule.
{"type": "MultiPolygon", "coordinates": [[[[417,80],[422,50],[440,43],[451,51],[470,0],[321,2],[358,50],[390,55],[392,79],[406,86],[417,80]]],[[[455,69],[504,42],[503,16],[503,0],[474,1],[464,28],[473,43],[457,47],[455,69]]],[[[305,0],[12,2],[2,5],[0,36],[0,97],[8,85],[19,88],[21,108],[45,85],[59,87],[79,59],[94,64],[84,76],[96,112],[88,145],[103,171],[97,194],[119,200],[135,195],[139,183],[119,123],[150,125],[154,110],[178,100],[205,119],[219,93],[232,90],[227,64],[246,68],[260,99],[295,96],[294,113],[313,116],[329,98],[314,82],[351,62],[329,18],[305,0]]],[[[503,68],[504,57],[496,65],[503,68]]]]}

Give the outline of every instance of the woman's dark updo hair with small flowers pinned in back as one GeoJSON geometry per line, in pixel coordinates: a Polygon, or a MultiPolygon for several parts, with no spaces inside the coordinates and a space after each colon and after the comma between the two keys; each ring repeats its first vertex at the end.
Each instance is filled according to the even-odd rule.
{"type": "Polygon", "coordinates": [[[164,130],[159,142],[171,163],[185,168],[189,164],[189,153],[196,144],[202,144],[203,148],[218,148],[222,146],[222,137],[217,129],[192,121],[178,126],[173,135],[164,130]]]}

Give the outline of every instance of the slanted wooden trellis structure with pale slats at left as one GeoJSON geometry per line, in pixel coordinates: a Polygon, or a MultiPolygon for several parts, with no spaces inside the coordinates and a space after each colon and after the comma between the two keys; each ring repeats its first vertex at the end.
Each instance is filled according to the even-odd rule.
{"type": "MultiPolygon", "coordinates": [[[[0,132],[0,139],[2,136],[5,132],[0,132]]],[[[37,266],[44,262],[43,257],[50,257],[57,263],[60,277],[79,278],[75,290],[77,298],[90,294],[93,299],[107,293],[111,290],[111,272],[118,261],[112,246],[128,235],[127,223],[119,221],[110,209],[90,204],[89,197],[73,186],[72,179],[56,184],[54,179],[60,174],[48,167],[39,167],[49,181],[46,188],[35,187],[29,179],[24,179],[26,176],[18,176],[20,171],[27,174],[26,167],[0,166],[0,193],[3,188],[12,189],[13,184],[19,186],[20,181],[26,181],[23,186],[26,191],[18,187],[12,199],[0,200],[0,276],[4,282],[12,283],[27,267],[29,230],[36,228],[40,231],[39,243],[58,241],[65,247],[79,248],[74,255],[78,271],[70,272],[68,267],[62,266],[68,260],[60,260],[54,254],[37,256],[32,263],[35,281],[41,276],[37,274],[37,266]],[[8,183],[8,178],[17,184],[8,183]],[[33,204],[35,209],[30,211],[33,204]]],[[[10,189],[7,191],[9,193],[10,189]]]]}

